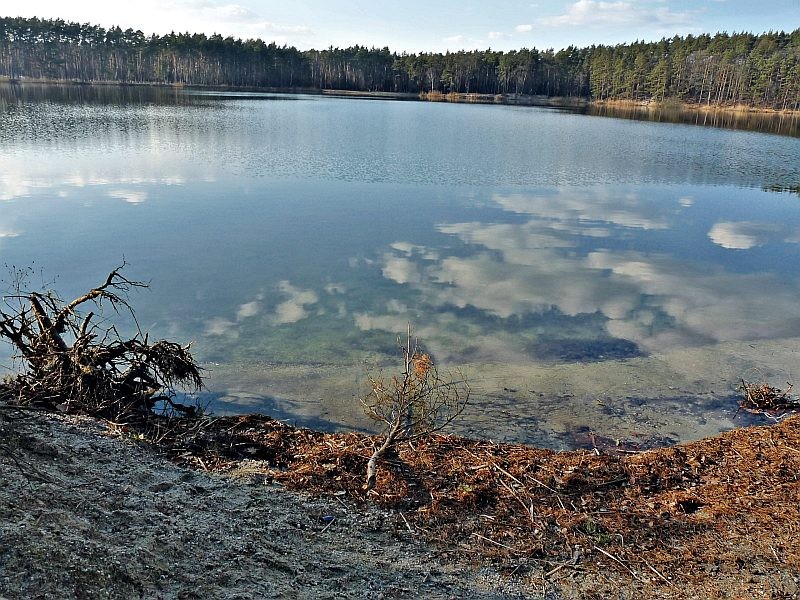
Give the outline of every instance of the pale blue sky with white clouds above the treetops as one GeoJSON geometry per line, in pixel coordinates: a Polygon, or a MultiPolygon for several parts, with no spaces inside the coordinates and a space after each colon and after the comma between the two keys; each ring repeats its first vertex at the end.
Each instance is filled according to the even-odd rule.
{"type": "Polygon", "coordinates": [[[800,0],[0,0],[0,15],[260,37],[305,50],[560,49],[717,31],[791,31],[800,0]]]}

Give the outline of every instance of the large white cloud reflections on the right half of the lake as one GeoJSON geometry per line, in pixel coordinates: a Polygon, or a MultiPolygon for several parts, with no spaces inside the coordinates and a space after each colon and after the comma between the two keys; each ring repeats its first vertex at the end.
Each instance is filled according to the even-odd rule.
{"type": "MultiPolygon", "coordinates": [[[[632,194],[615,197],[603,188],[495,195],[494,200],[508,212],[532,218],[440,225],[440,232],[465,246],[438,260],[428,257],[441,250],[395,242],[393,251],[383,254],[383,276],[409,286],[439,312],[478,309],[500,319],[553,309],[572,318],[599,315],[608,336],[648,351],[800,335],[798,290],[791,281],[637,245],[615,247],[631,235],[681,227],[676,215],[695,204],[685,197],[642,200],[632,194]]],[[[745,249],[766,243],[780,230],[771,224],[719,222],[708,237],[726,248],[745,249]]],[[[794,241],[793,234],[783,228],[781,237],[794,241]]],[[[356,316],[362,329],[398,331],[402,323],[399,314],[356,316]]]]}

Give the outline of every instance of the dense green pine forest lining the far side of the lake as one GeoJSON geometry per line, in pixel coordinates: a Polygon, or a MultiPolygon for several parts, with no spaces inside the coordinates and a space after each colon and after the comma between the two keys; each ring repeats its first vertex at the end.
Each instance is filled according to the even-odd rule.
{"type": "Polygon", "coordinates": [[[718,33],[616,46],[397,54],[388,48],[299,51],[260,39],[104,29],[0,18],[0,76],[592,100],[675,99],[800,108],[800,29],[718,33]]]}

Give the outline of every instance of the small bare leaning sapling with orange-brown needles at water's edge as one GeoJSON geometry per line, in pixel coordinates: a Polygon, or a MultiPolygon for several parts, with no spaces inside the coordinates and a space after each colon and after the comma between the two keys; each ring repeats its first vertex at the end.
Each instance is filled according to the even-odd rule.
{"type": "Polygon", "coordinates": [[[382,439],[367,462],[367,491],[375,487],[378,461],[402,442],[430,436],[453,422],[469,400],[470,388],[461,373],[439,373],[430,354],[412,339],[398,337],[403,357],[402,371],[384,377],[369,377],[370,392],[361,399],[364,412],[383,426],[382,439]]]}

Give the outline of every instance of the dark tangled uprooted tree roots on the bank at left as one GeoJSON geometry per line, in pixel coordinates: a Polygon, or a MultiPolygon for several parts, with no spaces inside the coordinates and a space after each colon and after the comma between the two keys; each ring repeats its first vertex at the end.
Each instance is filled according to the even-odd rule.
{"type": "Polygon", "coordinates": [[[0,305],[0,337],[14,346],[23,370],[5,383],[7,397],[18,405],[116,420],[149,413],[159,402],[194,411],[173,400],[176,386],[202,386],[189,346],[150,342],[138,326],[124,339],[113,324],[94,321],[104,306],[128,311],[135,321],[127,293],[147,285],[124,277],[123,267],[71,302],[52,290],[24,291],[25,274],[15,273],[15,292],[0,305]],[[94,310],[82,314],[87,305],[94,310]]]}

